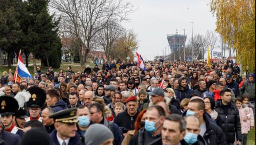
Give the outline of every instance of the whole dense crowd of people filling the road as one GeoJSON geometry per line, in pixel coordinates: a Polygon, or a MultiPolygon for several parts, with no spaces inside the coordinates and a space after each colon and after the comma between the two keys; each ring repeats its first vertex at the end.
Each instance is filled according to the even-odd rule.
{"type": "Polygon", "coordinates": [[[232,61],[105,62],[0,86],[0,145],[246,145],[255,74],[232,61]]]}

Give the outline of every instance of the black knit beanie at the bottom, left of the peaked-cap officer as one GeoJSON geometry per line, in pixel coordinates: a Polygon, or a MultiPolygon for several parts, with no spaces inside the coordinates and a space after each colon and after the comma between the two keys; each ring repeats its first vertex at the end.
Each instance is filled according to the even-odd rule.
{"type": "Polygon", "coordinates": [[[32,128],[22,136],[21,145],[50,145],[50,136],[45,130],[32,128]]]}

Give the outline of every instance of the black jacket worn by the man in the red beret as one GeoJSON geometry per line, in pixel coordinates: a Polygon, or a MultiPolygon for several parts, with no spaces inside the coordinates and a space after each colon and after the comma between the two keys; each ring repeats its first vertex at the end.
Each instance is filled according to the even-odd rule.
{"type": "Polygon", "coordinates": [[[124,127],[127,130],[134,130],[135,120],[140,112],[138,111],[134,116],[130,116],[127,113],[127,109],[124,112],[119,113],[115,118],[115,123],[119,127],[124,127]]]}

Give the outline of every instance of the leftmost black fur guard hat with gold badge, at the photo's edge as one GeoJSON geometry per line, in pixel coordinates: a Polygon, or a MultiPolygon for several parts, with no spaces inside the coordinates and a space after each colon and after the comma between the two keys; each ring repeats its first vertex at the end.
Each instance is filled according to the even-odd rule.
{"type": "Polygon", "coordinates": [[[19,108],[17,100],[9,96],[0,97],[0,104],[1,116],[14,115],[19,108]]]}

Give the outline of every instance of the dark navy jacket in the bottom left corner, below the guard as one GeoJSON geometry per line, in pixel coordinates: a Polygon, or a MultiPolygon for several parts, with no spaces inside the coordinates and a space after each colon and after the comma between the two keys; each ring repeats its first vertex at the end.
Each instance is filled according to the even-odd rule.
{"type": "Polygon", "coordinates": [[[19,135],[6,132],[4,131],[4,128],[2,127],[1,130],[1,137],[5,141],[6,145],[19,145],[21,144],[21,139],[19,135]]]}

